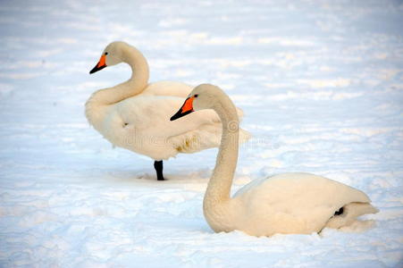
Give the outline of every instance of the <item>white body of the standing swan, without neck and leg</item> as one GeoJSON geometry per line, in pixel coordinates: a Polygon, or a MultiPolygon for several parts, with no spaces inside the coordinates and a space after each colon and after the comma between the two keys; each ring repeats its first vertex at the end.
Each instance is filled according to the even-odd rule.
{"type": "MultiPolygon", "coordinates": [[[[170,121],[183,101],[184,98],[178,96],[130,97],[105,108],[98,130],[113,145],[155,160],[218,147],[222,126],[213,110],[197,111],[170,121]]],[[[239,139],[248,138],[248,132],[240,130],[239,139]]]]}

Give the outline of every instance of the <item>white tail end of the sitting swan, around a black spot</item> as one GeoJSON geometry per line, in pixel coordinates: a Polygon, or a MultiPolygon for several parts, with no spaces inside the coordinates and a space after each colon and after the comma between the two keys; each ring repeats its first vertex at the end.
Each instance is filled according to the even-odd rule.
{"type": "MultiPolygon", "coordinates": [[[[341,209],[340,209],[341,211],[341,209]]],[[[325,227],[340,229],[351,225],[357,221],[357,217],[365,214],[376,214],[379,212],[377,208],[369,203],[352,202],[342,207],[342,213],[336,213],[325,227]]]]}

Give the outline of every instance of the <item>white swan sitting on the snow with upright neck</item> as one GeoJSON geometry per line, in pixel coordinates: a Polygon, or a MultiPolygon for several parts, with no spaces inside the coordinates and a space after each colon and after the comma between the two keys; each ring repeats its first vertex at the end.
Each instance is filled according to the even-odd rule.
{"type": "Polygon", "coordinates": [[[231,99],[212,85],[194,88],[171,121],[197,110],[214,109],[222,141],[203,208],[216,231],[242,230],[253,236],[320,232],[340,228],[378,210],[365,193],[309,173],[284,173],[254,180],[230,197],[238,159],[239,119],[231,99]]]}

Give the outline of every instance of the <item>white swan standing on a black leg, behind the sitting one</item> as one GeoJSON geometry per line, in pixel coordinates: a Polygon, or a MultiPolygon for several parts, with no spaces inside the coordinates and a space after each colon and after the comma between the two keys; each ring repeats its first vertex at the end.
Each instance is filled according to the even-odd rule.
{"type": "MultiPolygon", "coordinates": [[[[109,44],[89,73],[122,62],[131,67],[130,80],[98,90],[86,104],[89,123],[107,140],[154,159],[158,180],[164,180],[163,160],[219,146],[221,121],[212,111],[170,123],[168,115],[191,87],[172,81],[148,84],[147,60],[135,47],[124,42],[109,44]]],[[[242,131],[242,138],[248,139],[248,132],[242,131]]]]}

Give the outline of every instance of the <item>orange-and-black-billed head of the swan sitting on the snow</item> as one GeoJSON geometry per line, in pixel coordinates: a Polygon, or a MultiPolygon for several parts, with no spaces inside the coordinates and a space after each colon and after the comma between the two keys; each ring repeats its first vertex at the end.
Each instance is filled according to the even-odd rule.
{"type": "Polygon", "coordinates": [[[214,109],[223,95],[221,88],[211,84],[201,84],[193,88],[179,111],[173,114],[171,121],[198,110],[214,109]]]}

